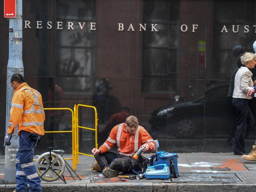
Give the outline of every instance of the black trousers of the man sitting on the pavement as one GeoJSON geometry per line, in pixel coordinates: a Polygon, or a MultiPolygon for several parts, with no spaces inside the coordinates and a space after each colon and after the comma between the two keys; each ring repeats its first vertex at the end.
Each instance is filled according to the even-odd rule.
{"type": "Polygon", "coordinates": [[[125,155],[120,155],[118,153],[114,153],[111,151],[108,151],[103,154],[94,155],[96,161],[100,165],[101,170],[104,170],[106,167],[111,167],[111,163],[113,160],[115,160],[115,164],[112,164],[112,166],[118,166],[117,164],[120,164],[120,168],[114,168],[119,171],[130,171],[131,169],[131,158],[132,157],[126,157],[125,155]],[[120,158],[120,159],[118,159],[120,158]],[[119,160],[119,161],[118,161],[119,160]]]}

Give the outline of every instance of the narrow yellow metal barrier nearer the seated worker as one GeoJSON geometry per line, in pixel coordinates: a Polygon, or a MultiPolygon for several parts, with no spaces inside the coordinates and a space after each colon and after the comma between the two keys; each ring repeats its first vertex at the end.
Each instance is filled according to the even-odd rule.
{"type": "Polygon", "coordinates": [[[95,131],[95,148],[98,149],[98,139],[97,139],[97,126],[98,126],[98,117],[97,117],[97,110],[94,106],[91,105],[82,105],[82,104],[78,104],[76,106],[76,164],[79,164],[79,154],[80,155],[87,155],[89,157],[94,157],[93,155],[89,155],[86,153],[81,153],[79,152],[79,144],[78,144],[78,128],[82,128],[82,129],[88,129],[88,130],[92,130],[95,131]],[[82,127],[78,124],[78,107],[88,107],[88,108],[92,108],[94,109],[95,112],[95,129],[93,128],[89,128],[89,127],[82,127]]]}

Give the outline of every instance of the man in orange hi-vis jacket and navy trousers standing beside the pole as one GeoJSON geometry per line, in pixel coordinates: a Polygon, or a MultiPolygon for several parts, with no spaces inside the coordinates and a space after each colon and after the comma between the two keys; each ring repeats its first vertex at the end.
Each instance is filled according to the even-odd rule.
{"type": "Polygon", "coordinates": [[[11,144],[10,140],[15,128],[19,132],[19,150],[15,157],[16,162],[16,188],[14,192],[30,191],[41,192],[41,182],[33,162],[34,148],[41,135],[45,134],[45,112],[41,94],[25,83],[21,74],[11,76],[11,86],[14,94],[11,101],[10,120],[5,145],[11,144]]]}

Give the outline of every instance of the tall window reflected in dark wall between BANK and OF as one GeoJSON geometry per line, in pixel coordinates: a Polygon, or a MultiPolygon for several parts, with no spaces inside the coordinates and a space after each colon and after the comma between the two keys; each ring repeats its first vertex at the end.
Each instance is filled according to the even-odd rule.
{"type": "Polygon", "coordinates": [[[178,53],[178,1],[144,1],[143,22],[158,23],[158,32],[143,34],[143,92],[167,92],[176,89],[176,83],[163,83],[161,79],[177,78],[178,53]]]}

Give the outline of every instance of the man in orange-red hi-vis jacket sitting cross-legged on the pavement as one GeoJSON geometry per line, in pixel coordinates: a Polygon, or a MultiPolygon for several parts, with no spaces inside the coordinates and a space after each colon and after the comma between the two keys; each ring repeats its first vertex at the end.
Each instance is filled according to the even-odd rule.
{"type": "MultiPolygon", "coordinates": [[[[137,171],[136,162],[139,159],[132,159],[132,155],[143,146],[143,151],[154,151],[156,143],[148,134],[144,127],[139,126],[139,121],[135,116],[128,116],[126,122],[119,124],[111,130],[108,139],[99,149],[93,148],[91,151],[98,164],[93,166],[93,170],[102,171],[106,177],[115,177],[119,171],[137,171]],[[108,151],[117,144],[118,153],[108,151]]],[[[137,162],[140,163],[140,162],[137,162]]]]}

